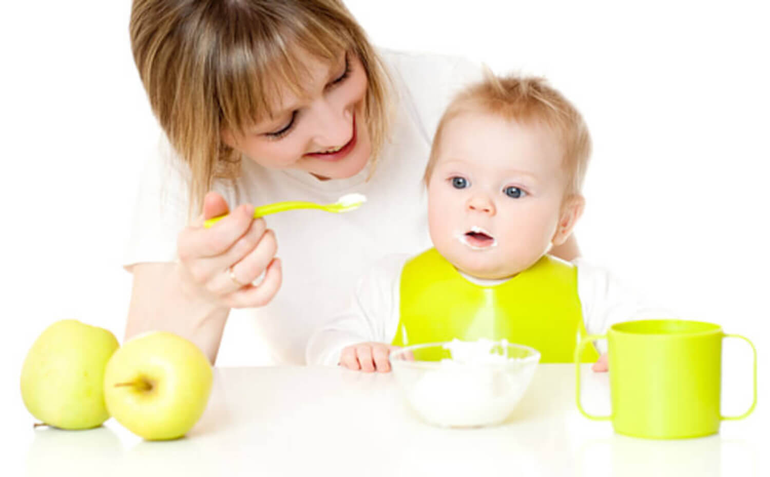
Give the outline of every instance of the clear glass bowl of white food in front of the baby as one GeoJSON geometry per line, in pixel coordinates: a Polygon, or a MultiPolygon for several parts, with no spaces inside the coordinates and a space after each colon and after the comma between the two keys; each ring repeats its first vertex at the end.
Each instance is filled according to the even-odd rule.
{"type": "Polygon", "coordinates": [[[410,407],[441,427],[503,422],[527,391],[540,352],[506,340],[453,340],[397,349],[390,365],[410,407]]]}

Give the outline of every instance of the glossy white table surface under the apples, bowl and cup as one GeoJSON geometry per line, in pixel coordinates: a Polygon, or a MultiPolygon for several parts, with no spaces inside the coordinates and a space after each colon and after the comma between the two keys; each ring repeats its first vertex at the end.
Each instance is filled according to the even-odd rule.
{"type": "MultiPolygon", "coordinates": [[[[607,410],[608,375],[584,375],[585,406],[607,410]]],[[[731,386],[745,392],[725,389],[723,411],[745,406],[748,379],[731,386]]],[[[628,438],[577,412],[571,365],[540,365],[503,425],[440,429],[413,415],[390,374],[219,368],[185,439],[143,442],[114,419],[88,431],[32,429],[32,416],[16,413],[0,475],[770,475],[764,411],[760,402],[702,439],[628,438]]]]}

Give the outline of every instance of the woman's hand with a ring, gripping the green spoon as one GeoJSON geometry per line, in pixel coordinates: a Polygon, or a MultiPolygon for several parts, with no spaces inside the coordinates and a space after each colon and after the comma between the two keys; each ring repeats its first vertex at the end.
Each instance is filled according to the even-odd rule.
{"type": "Polygon", "coordinates": [[[229,212],[221,195],[209,192],[203,215],[179,233],[179,273],[186,294],[217,308],[266,305],[281,285],[276,235],[263,218],[253,218],[253,205],[243,204],[211,228],[203,222],[229,212]],[[261,282],[253,285],[264,272],[261,282]]]}

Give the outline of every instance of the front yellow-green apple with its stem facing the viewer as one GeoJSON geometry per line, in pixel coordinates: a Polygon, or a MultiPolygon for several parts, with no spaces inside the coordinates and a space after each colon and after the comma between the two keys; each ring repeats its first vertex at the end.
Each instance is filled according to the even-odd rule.
{"type": "Polygon", "coordinates": [[[112,355],[104,376],[110,415],[148,440],[177,439],[198,422],[209,401],[213,371],[192,342],[149,332],[112,355]]]}

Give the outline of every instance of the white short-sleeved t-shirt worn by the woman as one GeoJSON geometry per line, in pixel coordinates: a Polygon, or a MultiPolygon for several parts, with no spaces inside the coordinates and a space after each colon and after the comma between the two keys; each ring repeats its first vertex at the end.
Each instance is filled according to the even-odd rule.
{"type": "MultiPolygon", "coordinates": [[[[233,310],[225,339],[234,320],[238,325],[246,321],[249,326],[240,333],[253,333],[254,343],[266,343],[275,363],[305,362],[310,333],[333,316],[377,259],[430,246],[422,183],[430,143],[452,95],[480,79],[482,70],[444,55],[386,51],[382,57],[393,79],[397,107],[390,143],[369,181],[368,167],[350,178],[320,181],[306,172],[267,169],[244,158],[236,181],[238,195],[228,182],[214,185],[230,208],[243,202],[330,203],[351,192],[367,196],[361,208],[345,214],[296,210],[265,218],[276,232],[283,285],[268,305],[233,310]]],[[[188,184],[187,166],[162,138],[159,155],[151,158],[142,175],[126,268],[177,259],[177,235],[188,223],[188,184]]],[[[246,361],[228,364],[253,364],[246,361]]]]}

